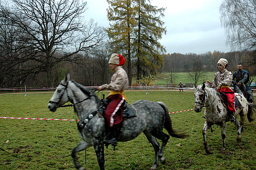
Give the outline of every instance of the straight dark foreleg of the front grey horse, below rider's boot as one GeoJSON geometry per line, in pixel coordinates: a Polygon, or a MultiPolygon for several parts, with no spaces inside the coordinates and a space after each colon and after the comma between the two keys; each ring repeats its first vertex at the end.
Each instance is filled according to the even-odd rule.
{"type": "Polygon", "coordinates": [[[95,153],[97,155],[97,161],[98,161],[98,166],[100,170],[105,170],[104,164],[105,164],[105,159],[104,159],[104,144],[101,141],[94,140],[94,149],[95,153]]]}

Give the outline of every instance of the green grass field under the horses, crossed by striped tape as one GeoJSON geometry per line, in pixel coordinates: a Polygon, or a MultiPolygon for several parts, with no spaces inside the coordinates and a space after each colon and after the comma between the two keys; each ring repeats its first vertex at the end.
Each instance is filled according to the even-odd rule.
{"type": "MultiPolygon", "coordinates": [[[[128,104],[140,99],[162,101],[169,112],[193,109],[193,91],[127,91],[128,104]]],[[[60,108],[52,113],[47,104],[53,93],[0,95],[1,117],[32,117],[77,119],[73,108],[60,108]]],[[[106,91],[98,92],[101,98],[106,91]]],[[[166,164],[157,170],[256,170],[256,121],[245,122],[242,142],[235,143],[234,124],[227,122],[226,150],[220,153],[220,127],[213,126],[207,137],[213,154],[203,147],[201,130],[203,112],[171,113],[173,128],[186,131],[187,139],[170,138],[164,157],[166,164]]],[[[80,141],[75,121],[0,119],[0,170],[75,170],[71,150],[80,141]]],[[[98,170],[93,147],[78,154],[87,170],[98,170]]],[[[148,170],[154,160],[154,150],[141,134],[130,142],[119,142],[116,151],[105,149],[106,170],[148,170]]]]}

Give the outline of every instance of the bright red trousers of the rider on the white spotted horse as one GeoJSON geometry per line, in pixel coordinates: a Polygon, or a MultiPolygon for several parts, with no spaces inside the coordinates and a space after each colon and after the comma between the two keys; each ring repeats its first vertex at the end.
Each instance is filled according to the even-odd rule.
{"type": "Polygon", "coordinates": [[[229,87],[221,87],[219,91],[226,95],[227,110],[235,112],[235,92],[229,87]]]}

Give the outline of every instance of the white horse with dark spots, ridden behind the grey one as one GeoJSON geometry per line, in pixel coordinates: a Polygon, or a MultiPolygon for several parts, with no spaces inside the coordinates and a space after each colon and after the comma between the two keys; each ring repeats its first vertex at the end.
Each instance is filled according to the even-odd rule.
{"type": "MultiPolygon", "coordinates": [[[[256,105],[248,103],[246,98],[242,94],[235,93],[235,96],[243,107],[236,107],[235,125],[237,128],[236,142],[241,141],[241,130],[244,126],[244,121],[247,115],[249,122],[253,120],[252,116],[255,113],[256,105]],[[240,115],[240,122],[237,119],[238,114],[240,115]]],[[[225,150],[225,125],[227,120],[227,108],[221,101],[218,92],[214,88],[209,88],[207,85],[198,85],[194,92],[195,104],[194,111],[196,113],[201,112],[202,108],[205,107],[204,116],[206,118],[204,127],[202,129],[204,148],[207,154],[211,154],[210,148],[206,140],[206,131],[214,124],[221,126],[223,145],[221,152],[225,150]]]]}

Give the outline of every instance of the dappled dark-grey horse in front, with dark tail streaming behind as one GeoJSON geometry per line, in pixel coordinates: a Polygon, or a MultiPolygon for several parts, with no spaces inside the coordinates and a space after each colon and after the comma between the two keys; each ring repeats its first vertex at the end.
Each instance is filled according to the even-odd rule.
{"type": "MultiPolygon", "coordinates": [[[[85,170],[80,166],[76,154],[94,146],[99,168],[104,170],[103,140],[106,137],[106,130],[104,118],[98,113],[102,106],[100,99],[91,89],[70,81],[70,76],[67,75],[54,92],[48,108],[55,112],[57,108],[62,107],[68,101],[72,103],[78,118],[83,122],[82,128],[79,128],[82,140],[72,150],[75,167],[78,170],[85,170]]],[[[172,129],[169,112],[164,103],[139,100],[131,105],[136,110],[137,116],[123,121],[118,142],[130,141],[143,132],[154,147],[155,161],[151,170],[156,170],[159,166],[159,159],[161,163],[165,162],[163,151],[169,140],[169,135],[175,138],[186,138],[188,135],[177,133],[172,129]],[[163,128],[168,131],[169,135],[162,132],[163,128]],[[156,138],[162,141],[161,148],[156,138]]]]}

